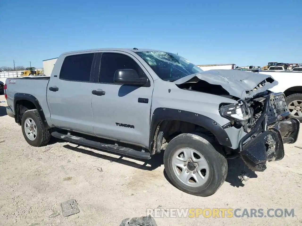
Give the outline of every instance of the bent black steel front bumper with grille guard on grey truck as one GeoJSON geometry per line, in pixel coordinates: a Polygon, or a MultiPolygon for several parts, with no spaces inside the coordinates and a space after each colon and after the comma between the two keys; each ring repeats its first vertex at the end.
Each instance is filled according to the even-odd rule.
{"type": "Polygon", "coordinates": [[[268,95],[256,125],[239,141],[240,157],[253,171],[264,171],[267,161],[283,159],[283,144],[297,141],[300,121],[288,117],[287,105],[276,110],[276,103],[281,101],[285,102],[283,93],[268,95]]]}

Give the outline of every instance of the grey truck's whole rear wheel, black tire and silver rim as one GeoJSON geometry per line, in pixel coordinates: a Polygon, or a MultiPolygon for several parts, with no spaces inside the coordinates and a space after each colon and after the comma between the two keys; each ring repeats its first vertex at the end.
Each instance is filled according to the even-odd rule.
{"type": "Polygon", "coordinates": [[[50,130],[44,129],[42,119],[37,109],[25,111],[22,116],[22,133],[31,146],[43,146],[50,140],[50,130]]]}

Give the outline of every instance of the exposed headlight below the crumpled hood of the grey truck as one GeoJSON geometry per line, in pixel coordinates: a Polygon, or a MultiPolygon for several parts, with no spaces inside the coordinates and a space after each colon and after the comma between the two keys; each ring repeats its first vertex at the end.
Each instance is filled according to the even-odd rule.
{"type": "Polygon", "coordinates": [[[251,109],[244,103],[223,105],[220,107],[220,115],[235,121],[246,121],[252,117],[251,109]]]}

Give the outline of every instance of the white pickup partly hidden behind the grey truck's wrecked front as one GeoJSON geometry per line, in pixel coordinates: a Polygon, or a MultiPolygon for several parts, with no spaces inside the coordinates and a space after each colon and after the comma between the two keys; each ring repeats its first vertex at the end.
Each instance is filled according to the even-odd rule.
{"type": "Polygon", "coordinates": [[[282,92],[286,96],[291,117],[302,122],[302,71],[260,71],[255,73],[267,74],[278,81],[278,85],[270,90],[282,92]]]}

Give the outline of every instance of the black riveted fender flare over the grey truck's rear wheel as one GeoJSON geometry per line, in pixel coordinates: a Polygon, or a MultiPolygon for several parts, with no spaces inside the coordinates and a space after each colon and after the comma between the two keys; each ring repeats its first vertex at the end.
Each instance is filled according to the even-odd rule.
{"type": "Polygon", "coordinates": [[[21,122],[19,122],[19,118],[18,118],[18,115],[16,112],[18,100],[28,100],[28,101],[32,102],[35,105],[36,109],[39,111],[44,128],[50,128],[49,125],[47,124],[44,112],[42,110],[42,107],[41,107],[39,101],[37,100],[37,98],[35,96],[28,94],[28,93],[15,93],[15,95],[14,95],[14,111],[15,111],[15,122],[16,123],[18,123],[18,124],[21,123],[21,122]]]}

